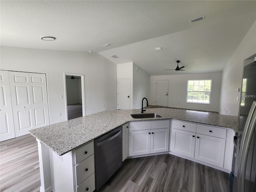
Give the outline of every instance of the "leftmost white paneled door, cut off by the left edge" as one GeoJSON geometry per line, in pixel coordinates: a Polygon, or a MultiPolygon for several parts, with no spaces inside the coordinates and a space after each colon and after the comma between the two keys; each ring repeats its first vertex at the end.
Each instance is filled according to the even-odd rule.
{"type": "Polygon", "coordinates": [[[0,70],[0,141],[15,138],[8,71],[0,70]]]}

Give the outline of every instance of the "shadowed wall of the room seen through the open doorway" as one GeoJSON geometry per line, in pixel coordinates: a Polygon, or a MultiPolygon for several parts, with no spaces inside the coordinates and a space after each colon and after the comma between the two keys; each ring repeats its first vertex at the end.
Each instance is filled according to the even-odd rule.
{"type": "Polygon", "coordinates": [[[66,78],[67,104],[82,104],[81,79],[66,78]]]}

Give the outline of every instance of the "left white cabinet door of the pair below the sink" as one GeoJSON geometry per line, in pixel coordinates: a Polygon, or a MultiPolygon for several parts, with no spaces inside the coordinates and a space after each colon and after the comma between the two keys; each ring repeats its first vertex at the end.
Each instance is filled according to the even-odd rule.
{"type": "Polygon", "coordinates": [[[150,154],[150,129],[130,132],[129,156],[150,154]]]}

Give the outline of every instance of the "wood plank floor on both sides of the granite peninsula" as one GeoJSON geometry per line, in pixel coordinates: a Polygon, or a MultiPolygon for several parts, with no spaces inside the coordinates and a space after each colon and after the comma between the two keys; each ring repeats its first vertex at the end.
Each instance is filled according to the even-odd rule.
{"type": "MultiPolygon", "coordinates": [[[[0,142],[0,191],[40,191],[30,134],[0,142]]],[[[170,154],[126,159],[99,192],[229,192],[229,174],[170,154]]]]}

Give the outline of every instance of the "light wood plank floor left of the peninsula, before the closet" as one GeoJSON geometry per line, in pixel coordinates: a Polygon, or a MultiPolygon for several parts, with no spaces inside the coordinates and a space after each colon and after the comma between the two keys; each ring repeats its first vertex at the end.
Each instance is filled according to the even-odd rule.
{"type": "Polygon", "coordinates": [[[40,185],[36,138],[28,134],[0,142],[0,191],[39,192],[40,185]]]}

